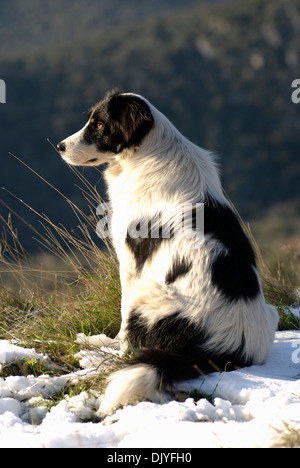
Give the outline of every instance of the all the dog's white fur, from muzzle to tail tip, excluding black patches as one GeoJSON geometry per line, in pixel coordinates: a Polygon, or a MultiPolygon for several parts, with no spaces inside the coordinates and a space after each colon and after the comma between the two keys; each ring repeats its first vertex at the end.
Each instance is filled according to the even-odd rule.
{"type": "MultiPolygon", "coordinates": [[[[113,207],[112,233],[122,285],[122,326],[118,339],[126,344],[128,314],[133,309],[138,308],[149,327],[180,310],[182,317],[196,329],[205,326],[211,337],[206,343],[208,349],[213,347],[219,352],[237,349],[243,335],[245,356],[251,357],[254,364],[262,364],[272,347],[277,311],[265,303],[262,291],[251,301],[230,302],[213,285],[212,261],[224,251],[220,241],[207,236],[201,247],[194,249],[192,239],[183,236],[172,239],[163,243],[145,263],[142,274],[135,272],[135,260],[125,242],[132,220],[145,213],[151,218],[160,211],[176,217],[178,207],[204,200],[207,195],[229,206],[213,155],[183,137],[164,115],[140,98],[149,106],[154,126],[138,147],[117,154],[99,153],[93,146],[82,143],[88,122],[65,140],[66,151],[62,154],[70,164],[109,163],[105,180],[113,207]],[[193,266],[174,284],[167,285],[165,276],[177,252],[192,260],[193,266]]],[[[108,413],[136,397],[163,400],[165,397],[158,388],[155,368],[136,364],[112,375],[100,411],[108,413]]]]}

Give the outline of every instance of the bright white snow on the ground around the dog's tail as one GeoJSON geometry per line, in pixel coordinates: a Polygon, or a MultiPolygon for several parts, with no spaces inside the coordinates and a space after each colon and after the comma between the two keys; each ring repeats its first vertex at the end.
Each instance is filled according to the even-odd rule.
{"type": "MultiPolygon", "coordinates": [[[[99,342],[97,337],[92,340],[99,342]]],[[[102,422],[94,420],[101,401],[96,393],[65,396],[49,408],[49,397],[68,382],[99,372],[93,367],[99,361],[96,355],[95,348],[81,351],[86,369],[73,374],[0,379],[0,447],[253,448],[280,445],[291,428],[300,432],[300,331],[277,332],[263,366],[177,385],[179,392],[196,390],[209,400],[198,396],[196,402],[190,397],[165,404],[141,402],[102,422]]],[[[2,365],[25,356],[51,364],[33,349],[0,341],[2,365]]]]}

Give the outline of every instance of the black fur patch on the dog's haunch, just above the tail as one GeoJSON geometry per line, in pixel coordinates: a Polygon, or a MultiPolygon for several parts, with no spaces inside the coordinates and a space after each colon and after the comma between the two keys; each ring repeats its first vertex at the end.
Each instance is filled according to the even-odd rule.
{"type": "Polygon", "coordinates": [[[133,310],[129,314],[127,334],[131,346],[137,351],[133,364],[157,367],[164,383],[251,364],[243,358],[243,339],[240,347],[232,353],[208,352],[204,347],[205,332],[197,330],[177,312],[149,328],[138,311],[133,310]]]}

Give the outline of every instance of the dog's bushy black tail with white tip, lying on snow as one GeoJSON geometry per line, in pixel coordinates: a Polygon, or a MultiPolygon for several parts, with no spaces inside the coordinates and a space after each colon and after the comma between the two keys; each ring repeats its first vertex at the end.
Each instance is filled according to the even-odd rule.
{"type": "Polygon", "coordinates": [[[132,365],[109,377],[99,414],[109,414],[119,405],[141,399],[167,401],[169,396],[166,391],[174,382],[195,378],[201,373],[203,375],[188,357],[169,351],[144,349],[132,365]]]}

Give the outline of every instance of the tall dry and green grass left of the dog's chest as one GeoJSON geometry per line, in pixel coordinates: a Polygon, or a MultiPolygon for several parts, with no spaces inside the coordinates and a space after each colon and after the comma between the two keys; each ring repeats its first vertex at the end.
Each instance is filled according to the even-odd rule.
{"type": "Polygon", "coordinates": [[[93,241],[96,208],[103,201],[73,170],[84,184],[82,194],[90,208],[87,216],[64,197],[79,221],[78,236],[36,213],[43,232],[35,234],[48,254],[33,259],[23,249],[11,219],[1,219],[5,229],[0,257],[0,337],[34,346],[67,369],[77,365],[73,356],[78,333],[117,334],[121,296],[118,262],[110,243],[100,248],[100,240],[99,244],[93,241]]]}

